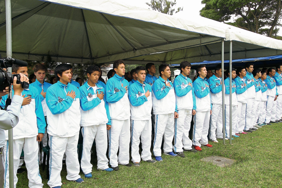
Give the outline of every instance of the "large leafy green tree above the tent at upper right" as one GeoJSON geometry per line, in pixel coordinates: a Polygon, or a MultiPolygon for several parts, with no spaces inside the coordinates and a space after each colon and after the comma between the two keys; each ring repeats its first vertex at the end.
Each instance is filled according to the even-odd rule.
{"type": "Polygon", "coordinates": [[[276,36],[281,26],[282,0],[202,0],[200,15],[268,37],[276,36]],[[228,22],[232,16],[234,22],[228,22]]]}

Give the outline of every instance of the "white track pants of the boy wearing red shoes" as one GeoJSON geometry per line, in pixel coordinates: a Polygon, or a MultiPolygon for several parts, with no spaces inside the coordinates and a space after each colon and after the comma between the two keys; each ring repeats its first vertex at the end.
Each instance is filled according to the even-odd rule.
{"type": "Polygon", "coordinates": [[[210,116],[210,110],[206,112],[196,112],[194,115],[193,145],[201,147],[201,145],[208,144],[210,116]]]}

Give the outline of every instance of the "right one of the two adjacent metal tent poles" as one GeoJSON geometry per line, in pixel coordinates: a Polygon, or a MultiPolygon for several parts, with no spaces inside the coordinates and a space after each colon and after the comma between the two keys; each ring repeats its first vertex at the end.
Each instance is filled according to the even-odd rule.
{"type": "Polygon", "coordinates": [[[232,41],[230,41],[229,47],[229,78],[230,78],[230,85],[229,85],[229,143],[232,144],[232,41]]]}

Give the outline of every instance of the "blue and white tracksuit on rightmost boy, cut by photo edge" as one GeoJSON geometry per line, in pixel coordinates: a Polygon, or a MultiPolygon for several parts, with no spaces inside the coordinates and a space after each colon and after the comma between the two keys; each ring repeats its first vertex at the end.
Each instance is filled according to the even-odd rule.
{"type": "Polygon", "coordinates": [[[280,120],[282,117],[282,73],[278,74],[278,72],[276,72],[273,78],[276,81],[276,88],[277,88],[277,93],[278,93],[278,97],[276,99],[275,120],[280,120]]]}

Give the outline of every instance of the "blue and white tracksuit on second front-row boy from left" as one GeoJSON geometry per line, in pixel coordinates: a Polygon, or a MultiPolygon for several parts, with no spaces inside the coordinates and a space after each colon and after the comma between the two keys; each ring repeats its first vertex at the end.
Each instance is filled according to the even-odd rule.
{"type": "Polygon", "coordinates": [[[80,92],[74,85],[58,81],[51,85],[46,92],[47,103],[47,133],[49,134],[50,187],[61,186],[61,169],[64,153],[66,154],[67,180],[80,178],[77,144],[80,130],[80,92]],[[74,91],[76,97],[67,96],[74,91]]]}

